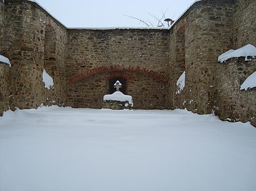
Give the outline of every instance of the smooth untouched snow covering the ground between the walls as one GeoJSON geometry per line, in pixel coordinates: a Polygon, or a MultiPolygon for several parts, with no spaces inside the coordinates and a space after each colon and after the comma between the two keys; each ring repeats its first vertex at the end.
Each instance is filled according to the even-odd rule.
{"type": "Polygon", "coordinates": [[[0,117],[1,191],[252,191],[256,129],[184,110],[42,107],[0,117]]]}

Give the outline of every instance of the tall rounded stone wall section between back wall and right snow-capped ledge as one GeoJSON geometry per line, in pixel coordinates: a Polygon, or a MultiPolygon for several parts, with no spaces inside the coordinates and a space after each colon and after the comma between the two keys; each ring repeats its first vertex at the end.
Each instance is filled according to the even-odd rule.
{"type": "Polygon", "coordinates": [[[233,48],[232,6],[232,1],[196,2],[171,28],[170,98],[174,108],[188,108],[200,114],[212,112],[217,96],[217,58],[224,50],[233,48]],[[184,57],[183,62],[177,62],[179,56],[184,57]],[[184,70],[185,87],[176,94],[176,82],[184,70]]]}

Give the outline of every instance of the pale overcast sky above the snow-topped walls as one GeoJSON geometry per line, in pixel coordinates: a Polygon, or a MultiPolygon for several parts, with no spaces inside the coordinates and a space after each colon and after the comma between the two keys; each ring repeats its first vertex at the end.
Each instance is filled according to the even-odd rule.
{"type": "Polygon", "coordinates": [[[67,27],[146,27],[125,15],[157,24],[166,18],[177,19],[194,0],[36,0],[67,27]]]}

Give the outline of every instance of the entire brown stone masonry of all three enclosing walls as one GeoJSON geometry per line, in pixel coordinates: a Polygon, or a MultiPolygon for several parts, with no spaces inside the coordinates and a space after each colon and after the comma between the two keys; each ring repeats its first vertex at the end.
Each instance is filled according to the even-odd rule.
{"type": "Polygon", "coordinates": [[[134,109],[175,109],[256,125],[256,90],[240,90],[256,61],[220,54],[256,45],[254,0],[195,2],[170,29],[68,29],[35,2],[0,1],[0,114],[16,107],[102,108],[122,78],[134,109]],[[43,69],[53,89],[42,82],[43,69]],[[185,71],[185,87],[176,82],[185,71]]]}

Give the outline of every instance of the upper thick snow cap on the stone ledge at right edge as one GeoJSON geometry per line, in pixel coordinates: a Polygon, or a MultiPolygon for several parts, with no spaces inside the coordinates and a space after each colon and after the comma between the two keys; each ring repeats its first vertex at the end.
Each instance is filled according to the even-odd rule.
{"type": "Polygon", "coordinates": [[[221,54],[218,57],[219,62],[225,62],[229,58],[238,58],[238,57],[245,57],[245,60],[247,61],[247,57],[255,57],[256,56],[256,48],[254,45],[247,44],[243,46],[242,48],[236,49],[236,50],[228,50],[227,52],[221,54]]]}

